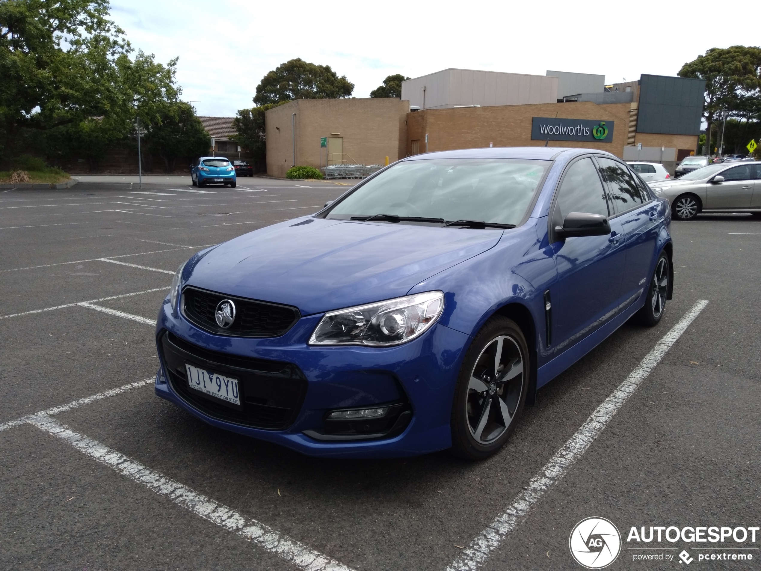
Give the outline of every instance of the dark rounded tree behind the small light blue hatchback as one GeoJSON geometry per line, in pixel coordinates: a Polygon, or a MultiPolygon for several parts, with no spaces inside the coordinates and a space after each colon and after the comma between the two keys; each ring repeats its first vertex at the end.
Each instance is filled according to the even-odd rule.
{"type": "Polygon", "coordinates": [[[209,133],[196,116],[196,110],[184,101],[158,105],[150,128],[145,133],[146,148],[164,159],[167,172],[174,171],[177,158],[193,161],[207,154],[209,140],[209,133]]]}

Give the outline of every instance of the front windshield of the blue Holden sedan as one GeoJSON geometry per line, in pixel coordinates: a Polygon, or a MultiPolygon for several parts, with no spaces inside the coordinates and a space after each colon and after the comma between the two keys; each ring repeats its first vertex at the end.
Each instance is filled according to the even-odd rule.
{"type": "Polygon", "coordinates": [[[509,158],[403,161],[358,187],[326,218],[390,215],[517,225],[550,164],[509,158]]]}

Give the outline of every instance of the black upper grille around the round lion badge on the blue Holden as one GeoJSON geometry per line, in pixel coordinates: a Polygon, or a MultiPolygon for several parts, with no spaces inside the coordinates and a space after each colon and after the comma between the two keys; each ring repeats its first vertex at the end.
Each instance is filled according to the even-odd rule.
{"type": "Polygon", "coordinates": [[[217,335],[232,337],[279,337],[288,331],[301,314],[288,305],[237,298],[187,286],[183,289],[182,311],[188,321],[217,335]],[[223,299],[235,304],[235,321],[223,329],[217,325],[215,312],[223,299]]]}

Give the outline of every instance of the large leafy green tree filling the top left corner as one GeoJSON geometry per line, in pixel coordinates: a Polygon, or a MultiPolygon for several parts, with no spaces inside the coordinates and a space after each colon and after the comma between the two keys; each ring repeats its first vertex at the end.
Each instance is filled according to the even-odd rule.
{"type": "Polygon", "coordinates": [[[107,0],[0,2],[0,129],[5,149],[21,129],[101,116],[116,91],[114,60],[129,51],[107,0]]]}

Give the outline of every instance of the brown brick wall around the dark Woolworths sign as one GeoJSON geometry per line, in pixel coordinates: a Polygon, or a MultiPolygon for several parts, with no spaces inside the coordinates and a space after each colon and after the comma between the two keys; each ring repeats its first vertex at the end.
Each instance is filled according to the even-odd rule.
{"type": "MultiPolygon", "coordinates": [[[[598,105],[591,101],[533,105],[504,105],[499,107],[467,107],[463,109],[431,109],[416,111],[407,116],[407,155],[412,155],[412,142],[419,141],[419,152],[425,152],[428,133],[428,152],[455,148],[482,148],[492,142],[495,147],[540,147],[546,141],[531,139],[533,117],[562,117],[615,121],[612,142],[552,141],[549,146],[599,148],[623,157],[629,121],[630,104],[598,105]]],[[[695,136],[637,133],[636,142],[642,146],[692,148],[695,136]],[[686,146],[681,146],[686,145],[686,146]]]]}

